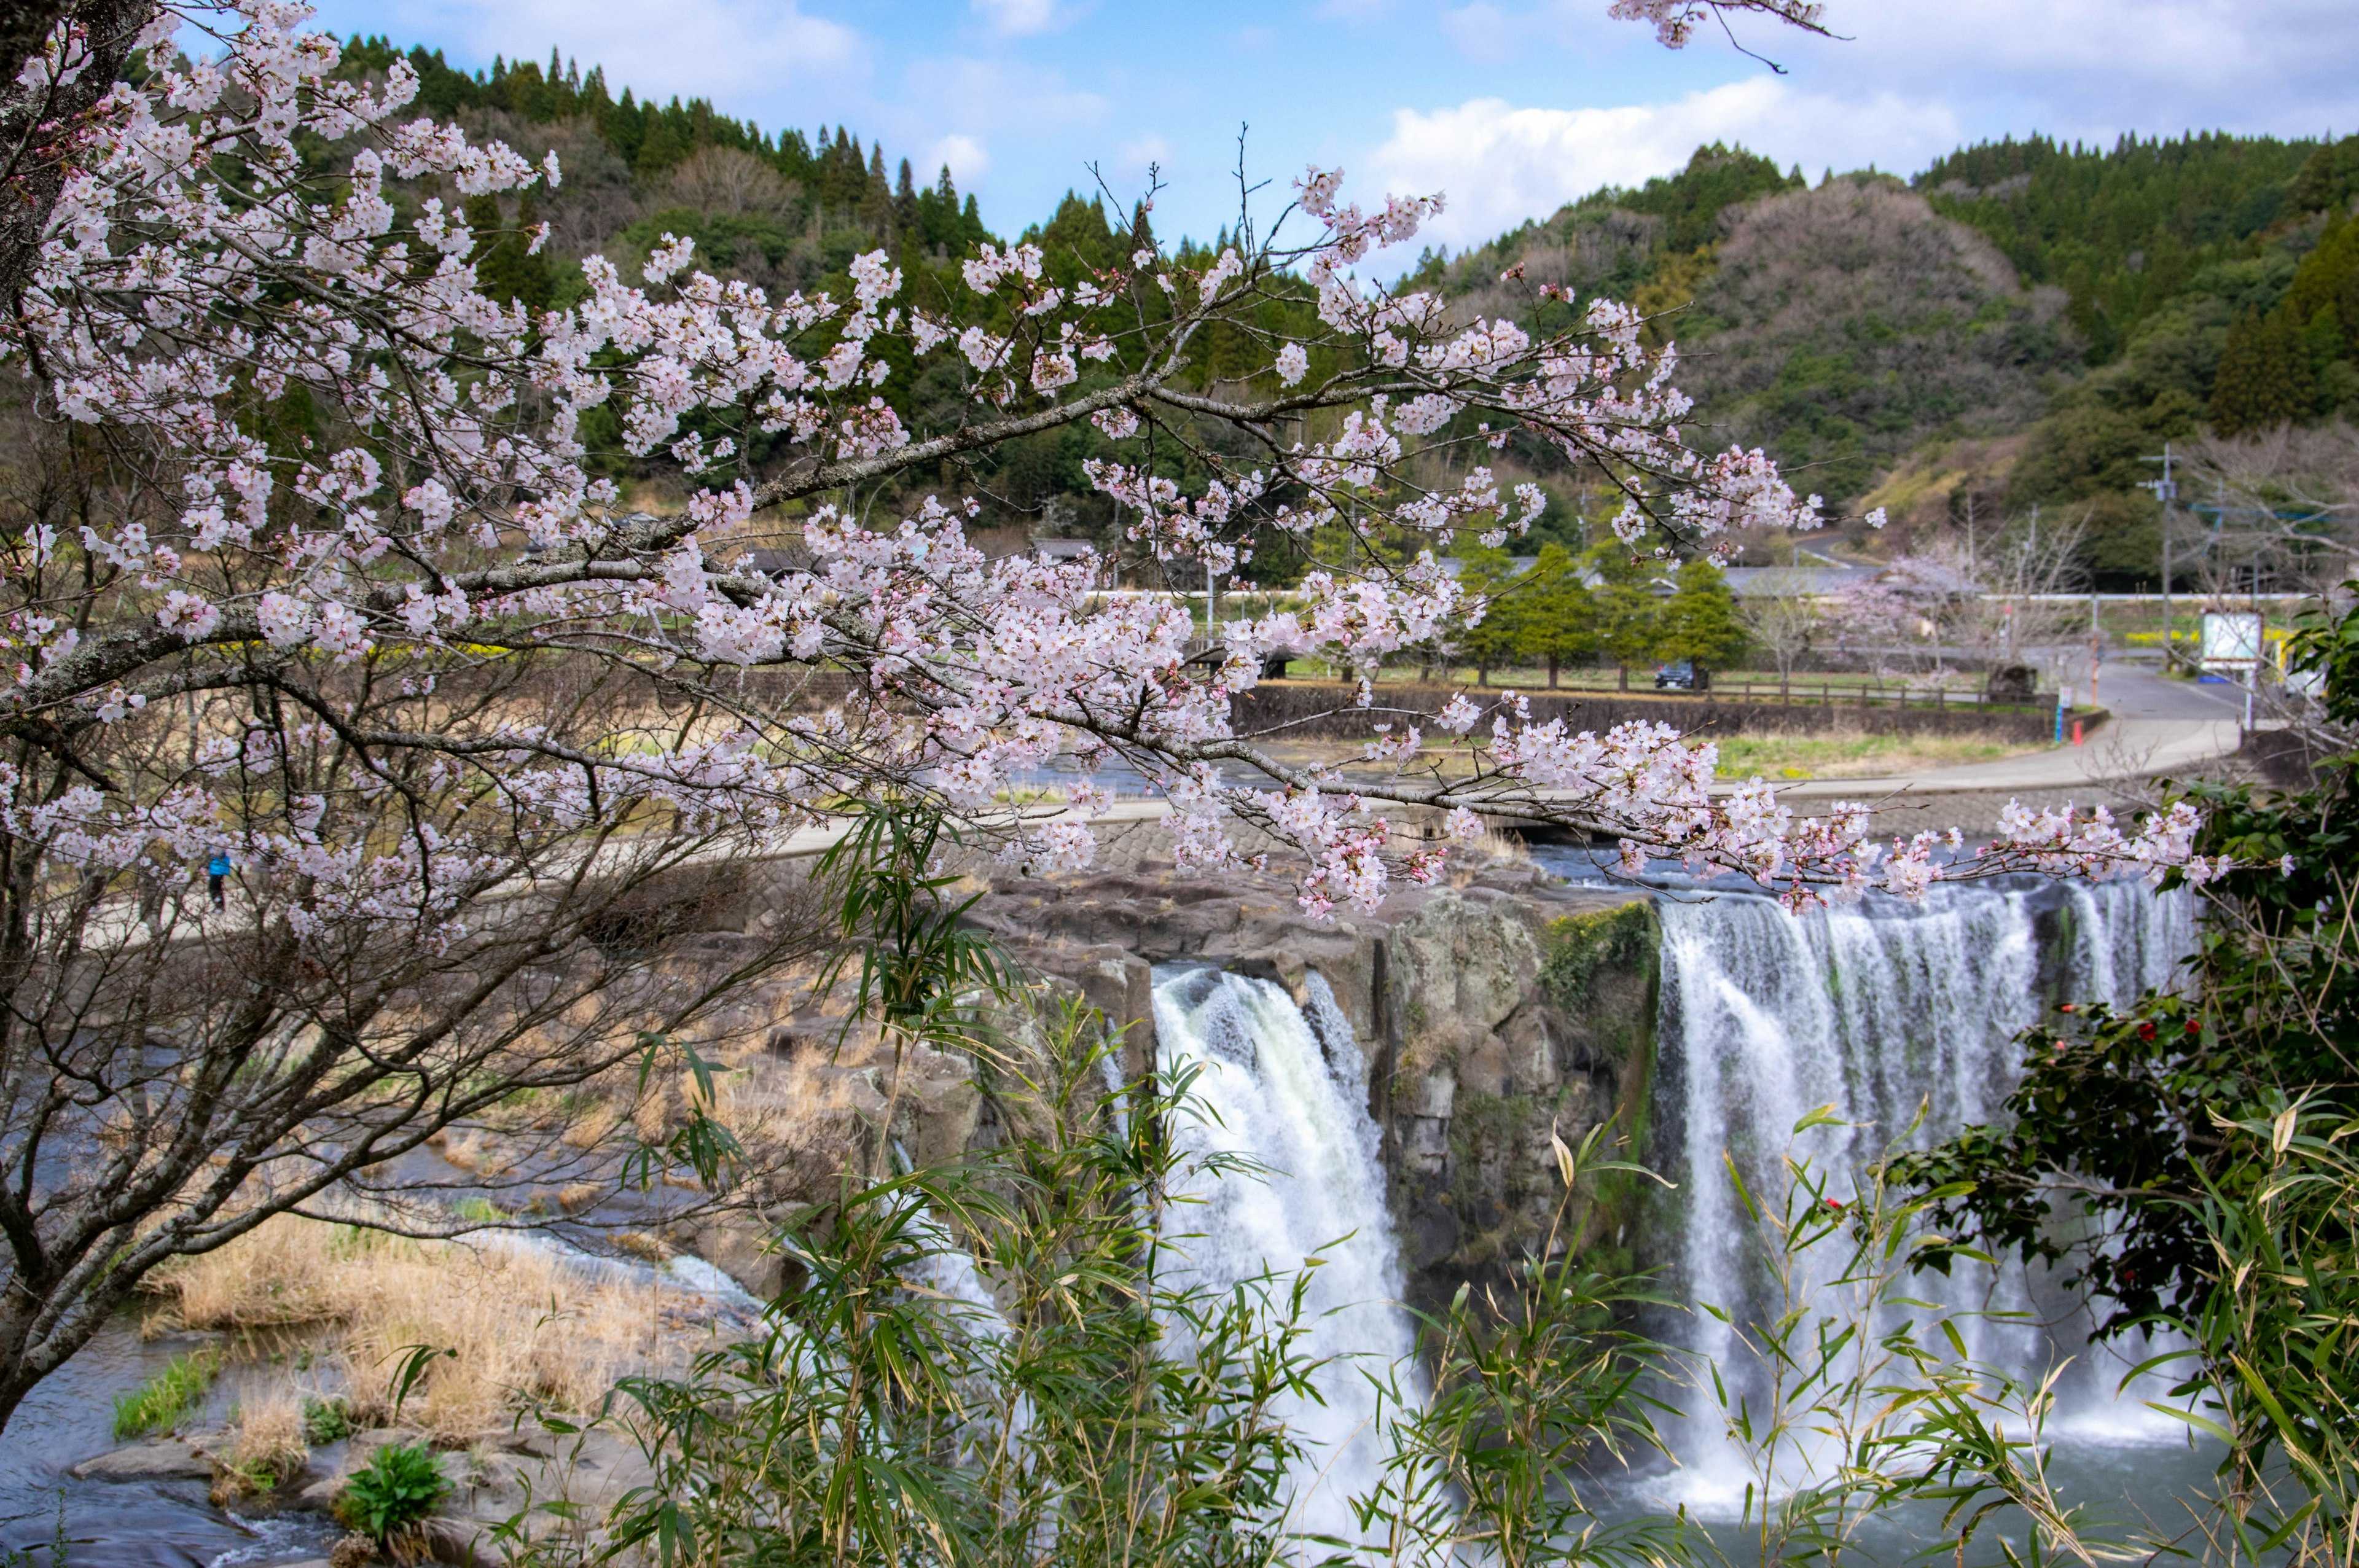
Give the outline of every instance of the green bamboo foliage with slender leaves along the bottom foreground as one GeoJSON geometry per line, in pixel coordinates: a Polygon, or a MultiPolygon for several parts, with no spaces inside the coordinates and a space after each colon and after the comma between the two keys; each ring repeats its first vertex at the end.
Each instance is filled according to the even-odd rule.
{"type": "Polygon", "coordinates": [[[1739,1181],[1772,1309],[1694,1306],[1729,1325],[1727,1365],[1682,1365],[1640,1332],[1680,1306],[1583,1252],[1597,1181],[1647,1174],[1606,1129],[1552,1137],[1550,1233],[1507,1285],[1422,1318],[1415,1365],[1321,1363],[1305,1320],[1316,1259],[1236,1287],[1187,1269],[1182,1195],[1262,1172],[1172,1137],[1208,1113],[1191,1075],[1109,1092],[1118,1035],[958,924],[944,844],[922,813],[880,809],[823,875],[870,955],[866,1009],[899,1037],[974,1049],[1005,1137],[948,1165],[845,1174],[786,1224],[793,1285],[760,1330],[679,1377],[620,1384],[599,1415],[644,1448],[651,1481],[599,1518],[554,1504],[580,1528],[538,1542],[519,1516],[514,1559],[1845,1568],[1890,1561],[1901,1535],[2005,1568],[2359,1561],[2359,1160],[2354,1125],[2321,1106],[2217,1122],[2232,1179],[2189,1200],[2213,1261],[2180,1356],[2182,1394],[2201,1396],[2187,1419],[2227,1457],[2217,1495],[2189,1500],[2196,1533],[2158,1540],[2059,1490],[2055,1372],[1977,1363],[1970,1316],[1918,1297],[1923,1269],[1989,1261],[1937,1224],[1965,1184],[1934,1186],[1908,1160],[1857,1177],[1814,1165],[1800,1151],[1838,1125],[1833,1108],[1795,1125],[1772,1191],[1739,1181]],[[1026,1021],[995,1030],[991,1014],[1026,1021]],[[1349,1540],[1295,1533],[1286,1514],[1316,1462],[1286,1410],[1338,1372],[1375,1382],[1385,1452],[1349,1540]],[[1736,1528],[1632,1507],[1625,1476],[1668,1460],[1658,1422],[1680,1405],[1717,1410],[1753,1471],[1736,1528]]]}

